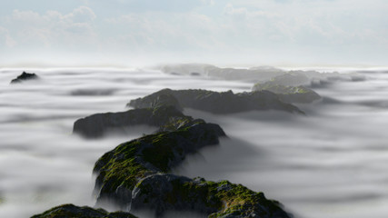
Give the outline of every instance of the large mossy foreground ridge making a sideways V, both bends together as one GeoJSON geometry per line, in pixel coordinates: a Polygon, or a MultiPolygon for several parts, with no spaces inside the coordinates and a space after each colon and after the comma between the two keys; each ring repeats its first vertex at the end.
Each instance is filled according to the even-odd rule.
{"type": "Polygon", "coordinates": [[[97,204],[114,203],[132,212],[193,212],[208,217],[290,217],[279,203],[241,184],[208,182],[171,174],[187,154],[218,144],[217,124],[194,120],[172,132],[120,144],[96,163],[97,204]]]}

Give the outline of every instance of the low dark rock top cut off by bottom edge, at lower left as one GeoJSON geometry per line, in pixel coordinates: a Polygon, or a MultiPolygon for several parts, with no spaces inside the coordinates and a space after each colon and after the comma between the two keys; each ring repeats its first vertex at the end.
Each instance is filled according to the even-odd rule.
{"type": "Polygon", "coordinates": [[[56,206],[44,213],[36,214],[31,218],[136,218],[131,213],[115,212],[107,213],[103,209],[94,209],[91,207],[79,207],[73,204],[64,204],[56,206]]]}

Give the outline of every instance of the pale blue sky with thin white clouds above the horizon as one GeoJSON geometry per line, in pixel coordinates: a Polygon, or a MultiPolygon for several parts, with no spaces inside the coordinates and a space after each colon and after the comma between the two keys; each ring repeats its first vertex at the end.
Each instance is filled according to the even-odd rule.
{"type": "Polygon", "coordinates": [[[386,0],[15,0],[0,66],[388,65],[386,0]]]}

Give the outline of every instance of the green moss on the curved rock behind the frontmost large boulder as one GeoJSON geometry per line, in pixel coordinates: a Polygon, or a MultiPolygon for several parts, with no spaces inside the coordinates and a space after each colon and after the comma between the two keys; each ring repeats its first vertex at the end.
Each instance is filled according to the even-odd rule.
{"type": "Polygon", "coordinates": [[[94,170],[102,178],[101,182],[105,186],[107,184],[104,192],[114,192],[122,184],[133,189],[140,178],[152,173],[144,163],[153,164],[159,172],[169,172],[173,162],[184,158],[184,150],[179,143],[200,143],[200,139],[191,136],[190,128],[192,127],[188,126],[174,132],[145,135],[120,144],[113,151],[104,154],[95,163],[94,170]],[[189,142],[188,139],[192,141],[189,142]]]}

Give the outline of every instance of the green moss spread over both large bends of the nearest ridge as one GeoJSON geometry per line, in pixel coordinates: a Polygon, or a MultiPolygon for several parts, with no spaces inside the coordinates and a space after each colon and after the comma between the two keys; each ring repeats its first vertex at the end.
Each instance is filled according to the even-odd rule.
{"type": "MultiPolygon", "coordinates": [[[[164,174],[170,172],[187,153],[195,152],[195,146],[217,140],[218,135],[212,129],[213,125],[195,125],[205,124],[203,120],[185,123],[183,119],[182,122],[184,124],[173,132],[145,135],[120,144],[113,151],[104,154],[95,163],[95,173],[99,173],[97,180],[100,179],[102,184],[100,196],[105,193],[105,196],[111,196],[120,186],[129,190],[136,187],[143,194],[141,199],[144,204],[159,199],[173,205],[173,208],[176,203],[186,205],[189,209],[200,208],[204,210],[200,213],[211,214],[210,217],[256,213],[264,211],[262,207],[271,207],[274,211],[282,210],[277,204],[265,199],[263,193],[255,193],[241,184],[228,181],[214,183],[202,178],[190,180],[180,176],[174,179],[174,176],[164,174]],[[188,150],[190,146],[194,148],[188,150]],[[154,185],[157,179],[144,179],[147,175],[156,174],[162,176],[159,178],[164,178],[161,183],[172,185],[171,191],[166,189],[164,193],[160,193],[160,187],[154,185]],[[164,175],[167,177],[163,177],[164,175]]],[[[163,206],[161,208],[164,210],[163,206]]]]}

